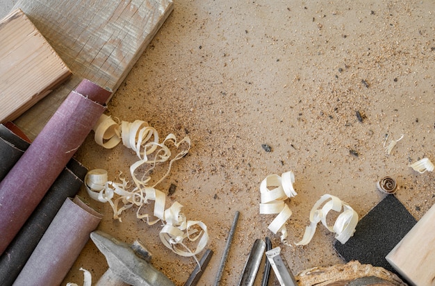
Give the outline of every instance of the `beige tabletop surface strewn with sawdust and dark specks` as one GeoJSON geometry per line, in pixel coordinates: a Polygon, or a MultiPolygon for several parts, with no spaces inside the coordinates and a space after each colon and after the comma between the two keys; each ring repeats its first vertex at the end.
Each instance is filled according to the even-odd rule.
{"type": "MultiPolygon", "coordinates": [[[[259,184],[269,174],[295,173],[289,242],[302,238],[322,194],[338,196],[362,217],[385,195],[376,189],[384,176],[397,180],[398,199],[417,219],[435,203],[434,174],[408,167],[420,158],[435,161],[434,1],[174,2],[107,114],[148,121],[162,137],[191,138],[190,154],[157,188],[177,185],[167,207],[178,201],[188,219],[208,226],[215,254],[200,285],[213,284],[236,210],[222,285],[238,283],[254,239],[265,236],[295,273],[343,263],[334,234],[321,225],[303,247],[284,246],[270,233],[274,216],[258,214],[259,184]],[[390,155],[387,134],[404,135],[390,155]]],[[[135,160],[124,146],[101,149],[92,135],[76,158],[89,169],[108,169],[111,180],[128,174],[135,160]]],[[[140,238],[154,267],[183,285],[195,260],[166,249],[159,224],[138,221],[136,210],[121,223],[109,205],[90,205],[105,214],[99,229],[124,242],[140,238]]],[[[80,267],[95,280],[107,269],[92,242],[65,282],[80,284],[80,267]]]]}

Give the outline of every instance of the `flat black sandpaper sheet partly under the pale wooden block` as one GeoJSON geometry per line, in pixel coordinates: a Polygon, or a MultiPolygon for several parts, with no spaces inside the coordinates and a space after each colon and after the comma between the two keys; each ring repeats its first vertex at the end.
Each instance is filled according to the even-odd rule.
{"type": "Polygon", "coordinates": [[[360,219],[353,237],[345,244],[334,242],[334,248],[346,262],[358,260],[397,274],[385,257],[416,222],[404,205],[389,194],[360,219]]]}

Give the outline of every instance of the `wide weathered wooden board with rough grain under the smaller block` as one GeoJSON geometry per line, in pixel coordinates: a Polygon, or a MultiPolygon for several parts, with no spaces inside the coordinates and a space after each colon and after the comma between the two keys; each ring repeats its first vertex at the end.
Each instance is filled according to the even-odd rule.
{"type": "Polygon", "coordinates": [[[42,35],[72,70],[72,78],[15,124],[34,138],[65,96],[88,78],[117,90],[173,8],[171,0],[20,0],[42,35]]]}

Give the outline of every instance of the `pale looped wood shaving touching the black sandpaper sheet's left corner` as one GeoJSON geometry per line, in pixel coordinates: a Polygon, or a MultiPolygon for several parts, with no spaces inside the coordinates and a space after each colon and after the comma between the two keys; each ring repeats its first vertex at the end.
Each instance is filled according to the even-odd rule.
{"type": "Polygon", "coordinates": [[[341,201],[336,196],[331,194],[324,194],[320,199],[314,204],[310,212],[310,226],[306,227],[304,237],[296,245],[306,245],[311,242],[314,236],[317,224],[322,221],[322,224],[331,232],[336,233],[336,239],[345,244],[352,235],[354,235],[356,224],[358,223],[358,214],[348,205],[347,203],[341,201]],[[320,208],[320,205],[323,205],[320,208]],[[334,226],[327,225],[327,215],[330,210],[335,210],[340,212],[343,208],[343,212],[338,215],[334,226]]]}

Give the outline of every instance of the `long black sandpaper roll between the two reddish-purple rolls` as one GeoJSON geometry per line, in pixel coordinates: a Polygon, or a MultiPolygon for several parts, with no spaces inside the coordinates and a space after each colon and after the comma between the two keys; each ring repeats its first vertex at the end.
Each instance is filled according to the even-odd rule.
{"type": "Polygon", "coordinates": [[[79,192],[87,171],[74,158],[69,160],[67,167],[60,173],[44,199],[0,256],[2,286],[13,285],[65,199],[79,192]]]}

